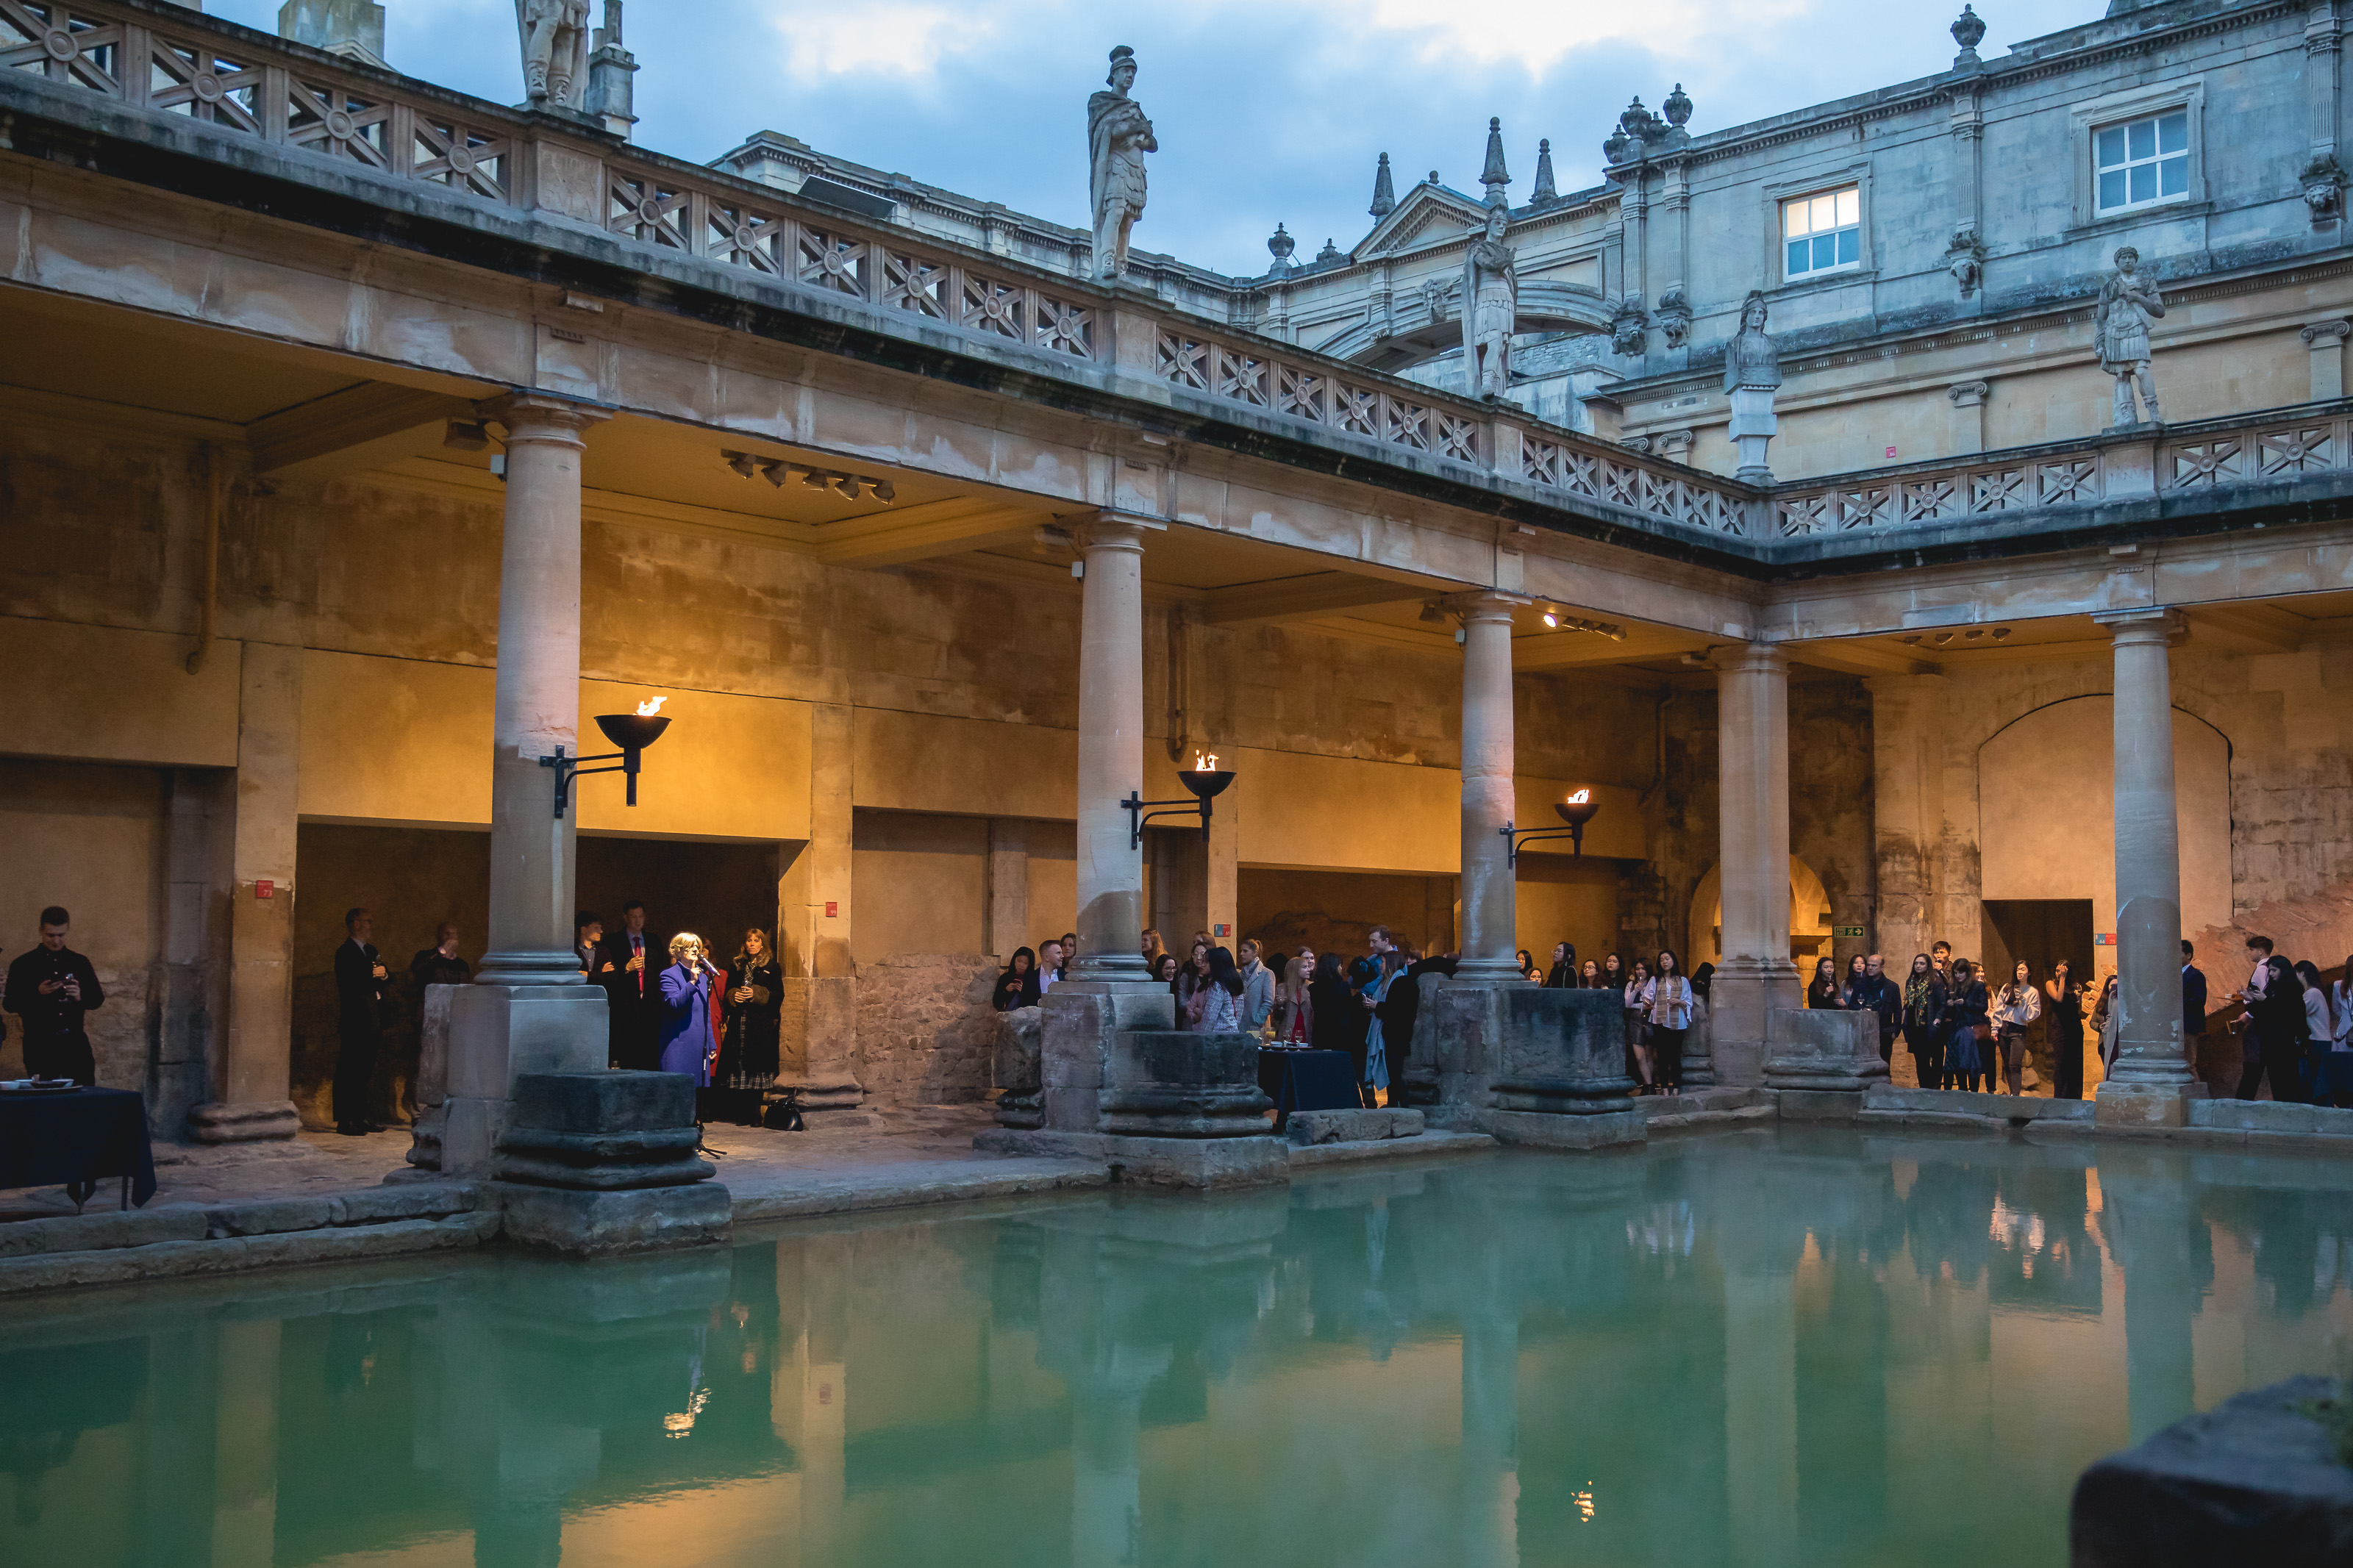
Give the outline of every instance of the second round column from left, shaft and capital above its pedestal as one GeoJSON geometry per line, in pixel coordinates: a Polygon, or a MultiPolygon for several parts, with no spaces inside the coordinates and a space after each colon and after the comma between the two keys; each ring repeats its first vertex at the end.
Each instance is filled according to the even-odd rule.
{"type": "Polygon", "coordinates": [[[1101,512],[1085,534],[1078,632],[1078,964],[1073,980],[1148,980],[1144,853],[1120,806],[1144,790],[1144,531],[1101,512]]]}

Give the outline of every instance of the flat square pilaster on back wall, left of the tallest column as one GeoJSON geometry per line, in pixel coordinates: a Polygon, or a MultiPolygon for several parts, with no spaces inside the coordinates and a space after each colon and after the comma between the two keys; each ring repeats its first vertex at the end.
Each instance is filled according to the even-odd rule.
{"type": "Polygon", "coordinates": [[[247,642],[238,689],[238,792],[228,889],[228,1027],[198,1143],[292,1138],[294,825],[301,776],[301,649],[247,642]]]}

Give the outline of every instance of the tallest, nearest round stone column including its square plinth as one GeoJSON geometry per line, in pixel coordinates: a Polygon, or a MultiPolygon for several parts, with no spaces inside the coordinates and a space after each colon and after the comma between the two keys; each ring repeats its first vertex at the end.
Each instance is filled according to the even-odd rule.
{"type": "Polygon", "coordinates": [[[558,818],[555,771],[539,764],[581,750],[581,451],[605,416],[536,393],[485,414],[506,425],[489,952],[449,1009],[445,1175],[489,1171],[518,1072],[586,1072],[607,1051],[605,992],[572,957],[579,792],[558,818]]]}

